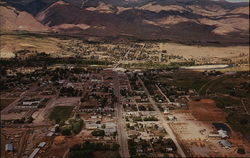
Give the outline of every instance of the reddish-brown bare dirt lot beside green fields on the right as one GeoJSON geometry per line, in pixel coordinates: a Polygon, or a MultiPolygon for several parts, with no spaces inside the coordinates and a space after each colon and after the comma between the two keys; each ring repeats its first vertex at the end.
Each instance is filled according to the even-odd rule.
{"type": "Polygon", "coordinates": [[[225,122],[226,114],[211,99],[189,102],[193,116],[199,121],[225,122]]]}

